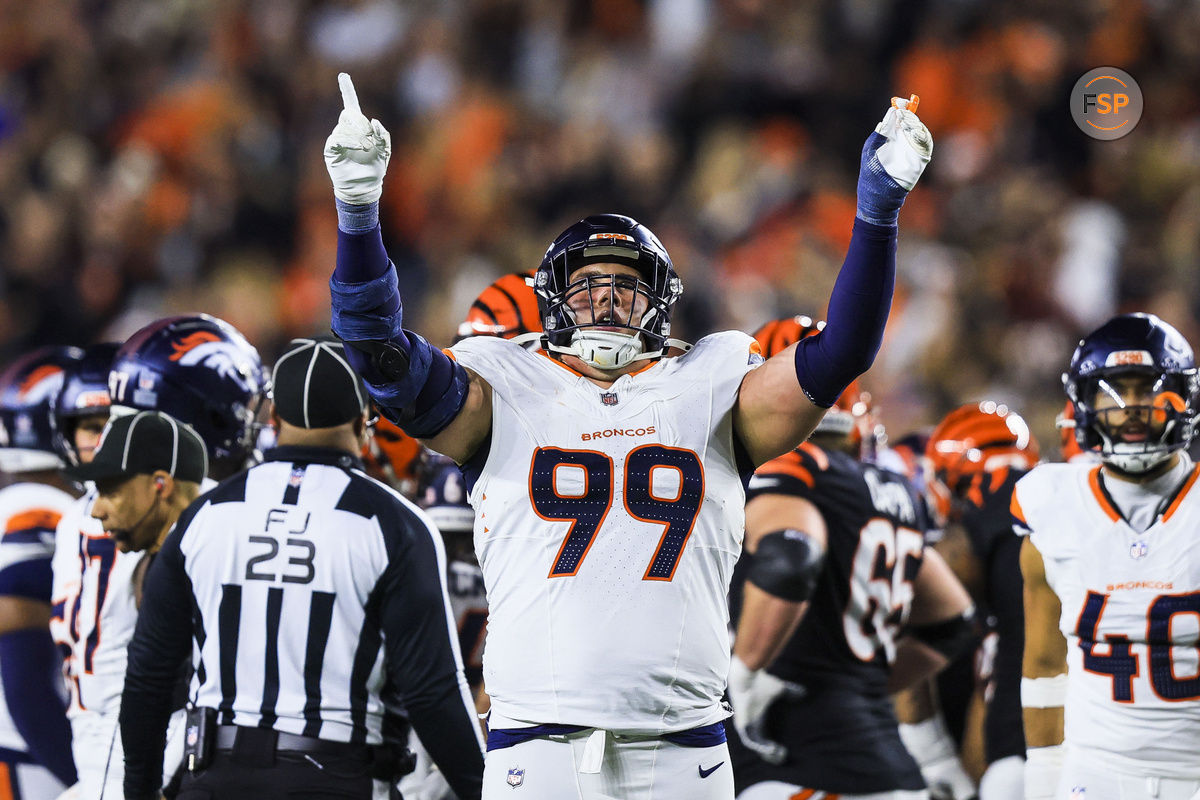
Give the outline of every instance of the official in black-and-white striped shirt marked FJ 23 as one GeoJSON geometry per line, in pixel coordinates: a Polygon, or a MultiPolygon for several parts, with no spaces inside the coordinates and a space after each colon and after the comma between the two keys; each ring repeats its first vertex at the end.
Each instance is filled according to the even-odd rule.
{"type": "Polygon", "coordinates": [[[125,796],[158,796],[174,664],[194,644],[181,800],[379,796],[372,778],[402,771],[398,709],[474,800],[481,740],[437,530],[361,471],[367,395],[341,344],[294,339],[274,380],[278,446],[192,504],[146,576],[125,796]]]}

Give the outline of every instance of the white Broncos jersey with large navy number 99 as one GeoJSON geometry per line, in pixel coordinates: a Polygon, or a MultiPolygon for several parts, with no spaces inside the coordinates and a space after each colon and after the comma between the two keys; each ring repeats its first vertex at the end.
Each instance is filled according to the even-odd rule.
{"type": "Polygon", "coordinates": [[[505,339],[452,354],[492,386],[491,441],[464,473],[493,712],[637,734],[728,716],[732,409],[754,339],[708,336],[608,389],[505,339]]]}

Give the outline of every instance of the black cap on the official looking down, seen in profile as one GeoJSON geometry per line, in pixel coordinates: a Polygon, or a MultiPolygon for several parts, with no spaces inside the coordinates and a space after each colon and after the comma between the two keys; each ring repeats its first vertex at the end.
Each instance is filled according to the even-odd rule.
{"type": "Polygon", "coordinates": [[[162,411],[138,411],[112,417],[91,462],[64,473],[77,481],[103,481],[158,470],[199,483],[209,473],[204,440],[192,426],[162,411]]]}

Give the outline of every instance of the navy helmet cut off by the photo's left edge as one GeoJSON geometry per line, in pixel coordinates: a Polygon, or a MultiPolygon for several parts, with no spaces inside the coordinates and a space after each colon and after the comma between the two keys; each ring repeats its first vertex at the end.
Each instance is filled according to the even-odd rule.
{"type": "Polygon", "coordinates": [[[26,473],[62,465],[54,449],[50,409],[65,372],[80,359],[79,348],[38,348],[0,375],[0,469],[26,473]]]}

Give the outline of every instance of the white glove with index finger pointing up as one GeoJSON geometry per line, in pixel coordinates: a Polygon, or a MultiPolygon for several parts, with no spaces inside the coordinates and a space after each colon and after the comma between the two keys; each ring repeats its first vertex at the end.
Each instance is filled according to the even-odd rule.
{"type": "Polygon", "coordinates": [[[378,203],[383,176],[391,158],[391,134],[379,120],[367,120],[359,108],[350,76],[337,73],[342,114],[325,139],[325,169],[334,181],[334,197],[352,205],[378,203]]]}

